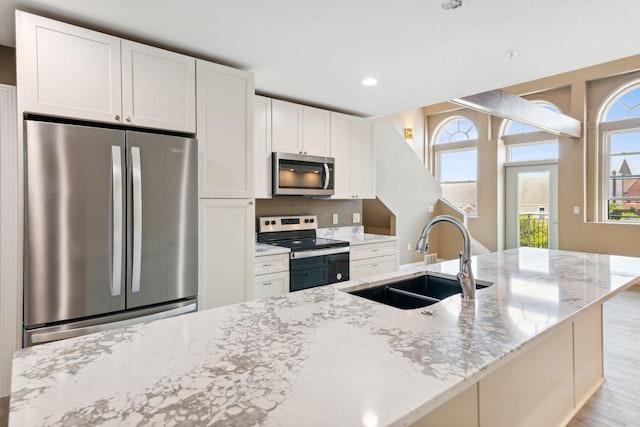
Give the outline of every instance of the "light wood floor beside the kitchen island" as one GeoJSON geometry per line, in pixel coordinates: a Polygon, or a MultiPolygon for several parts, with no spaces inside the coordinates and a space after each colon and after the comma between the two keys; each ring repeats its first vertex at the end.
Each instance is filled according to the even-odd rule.
{"type": "MultiPolygon", "coordinates": [[[[640,425],[640,291],[604,305],[604,368],[607,381],[568,427],[640,425]]],[[[0,427],[8,423],[9,398],[0,398],[0,427]]]]}

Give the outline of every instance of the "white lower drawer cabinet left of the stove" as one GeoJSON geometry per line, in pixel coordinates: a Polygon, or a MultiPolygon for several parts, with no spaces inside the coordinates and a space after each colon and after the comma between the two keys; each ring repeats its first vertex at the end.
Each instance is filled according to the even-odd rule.
{"type": "Polygon", "coordinates": [[[289,292],[289,254],[256,256],[252,299],[268,298],[289,292]]]}

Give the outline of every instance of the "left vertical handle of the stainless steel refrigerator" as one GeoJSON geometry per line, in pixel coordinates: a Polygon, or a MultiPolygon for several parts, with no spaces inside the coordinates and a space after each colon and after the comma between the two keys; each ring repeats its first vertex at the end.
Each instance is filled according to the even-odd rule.
{"type": "Polygon", "coordinates": [[[122,157],[119,146],[111,146],[111,296],[122,286],[122,157]]]}

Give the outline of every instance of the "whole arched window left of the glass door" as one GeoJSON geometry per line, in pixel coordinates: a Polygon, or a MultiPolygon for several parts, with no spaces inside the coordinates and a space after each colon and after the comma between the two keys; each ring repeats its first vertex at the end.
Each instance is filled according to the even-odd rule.
{"type": "Polygon", "coordinates": [[[478,129],[469,119],[453,117],[436,130],[433,139],[436,177],[445,199],[470,215],[477,215],[478,129]]]}

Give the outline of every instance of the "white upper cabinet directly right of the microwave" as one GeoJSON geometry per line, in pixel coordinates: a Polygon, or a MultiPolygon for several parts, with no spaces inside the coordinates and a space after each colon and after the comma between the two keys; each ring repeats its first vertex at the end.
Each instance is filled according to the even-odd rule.
{"type": "Polygon", "coordinates": [[[331,113],[331,156],[335,164],[334,199],[375,199],[373,124],[331,113]]]}

